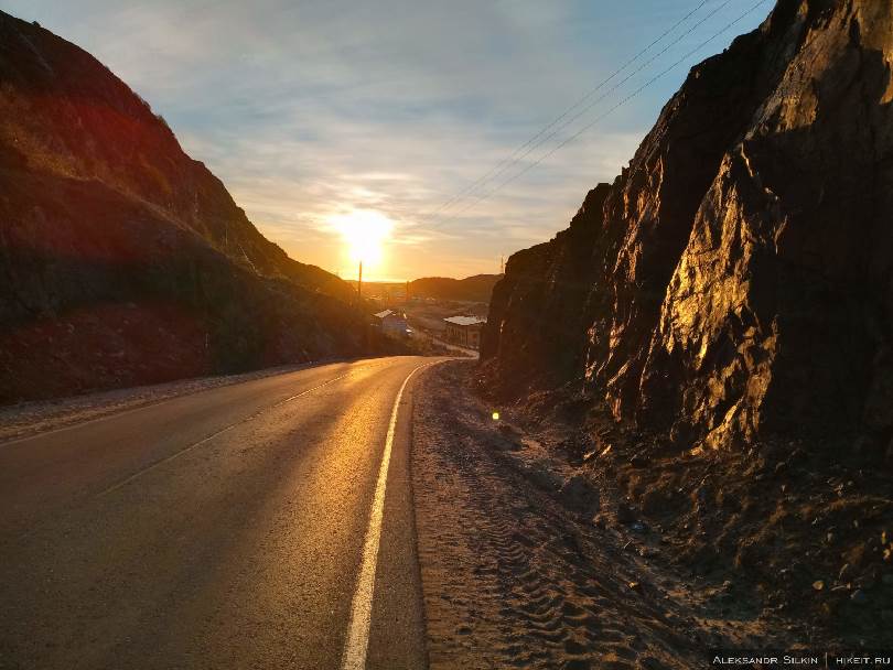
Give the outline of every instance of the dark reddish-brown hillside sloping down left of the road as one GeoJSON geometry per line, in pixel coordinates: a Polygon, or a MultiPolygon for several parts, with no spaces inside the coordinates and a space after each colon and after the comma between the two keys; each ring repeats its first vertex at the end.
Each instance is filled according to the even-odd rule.
{"type": "Polygon", "coordinates": [[[0,402],[358,353],[291,260],[89,54],[0,12],[0,402]]]}

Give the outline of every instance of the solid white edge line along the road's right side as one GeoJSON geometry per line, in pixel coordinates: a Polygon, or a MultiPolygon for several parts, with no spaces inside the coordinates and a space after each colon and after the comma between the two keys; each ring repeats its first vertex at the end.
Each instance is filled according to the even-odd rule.
{"type": "Polygon", "coordinates": [[[375,569],[378,563],[378,543],[381,539],[381,518],[385,511],[385,489],[388,485],[388,466],[390,452],[394,446],[394,435],[397,432],[397,413],[400,400],[404,397],[409,379],[421,368],[437,363],[426,363],[413,368],[404,379],[394,409],[390,411],[388,434],[385,437],[385,452],[381,456],[381,466],[378,469],[378,480],[375,484],[375,497],[369,512],[369,527],[366,530],[366,541],[363,544],[363,562],[359,566],[359,576],[356,581],[356,591],[351,604],[351,623],[347,627],[347,641],[344,645],[342,670],[363,670],[366,667],[366,652],[369,648],[369,626],[372,625],[373,592],[375,591],[375,569]]]}

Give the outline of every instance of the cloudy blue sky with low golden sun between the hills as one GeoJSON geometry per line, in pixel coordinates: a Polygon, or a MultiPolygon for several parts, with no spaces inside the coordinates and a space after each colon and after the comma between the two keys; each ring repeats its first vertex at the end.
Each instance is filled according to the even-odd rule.
{"type": "Polygon", "coordinates": [[[404,280],[498,272],[503,256],[567,227],[587,192],[628,163],[688,69],[773,4],[756,3],[0,8],[105,63],[292,258],[353,279],[365,255],[364,279],[404,280]]]}

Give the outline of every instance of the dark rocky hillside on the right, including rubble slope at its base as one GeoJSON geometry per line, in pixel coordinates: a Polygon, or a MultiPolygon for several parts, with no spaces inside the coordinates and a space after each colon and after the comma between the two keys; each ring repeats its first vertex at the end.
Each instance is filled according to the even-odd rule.
{"type": "Polygon", "coordinates": [[[890,2],[779,0],[509,259],[476,378],[596,526],[798,644],[893,642],[892,61],[890,2]]]}

